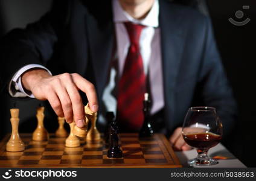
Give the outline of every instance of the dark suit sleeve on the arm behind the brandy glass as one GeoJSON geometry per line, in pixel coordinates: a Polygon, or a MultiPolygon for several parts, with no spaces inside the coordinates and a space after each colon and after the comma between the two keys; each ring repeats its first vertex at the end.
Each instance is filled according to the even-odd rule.
{"type": "Polygon", "coordinates": [[[199,72],[197,92],[205,105],[216,107],[223,124],[223,135],[226,137],[234,128],[237,104],[217,50],[210,19],[207,17],[205,17],[205,45],[199,72]]]}

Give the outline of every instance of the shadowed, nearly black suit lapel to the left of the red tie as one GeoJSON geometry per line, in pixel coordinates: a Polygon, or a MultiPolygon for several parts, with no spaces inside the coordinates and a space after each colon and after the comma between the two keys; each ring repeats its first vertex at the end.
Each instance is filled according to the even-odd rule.
{"type": "MultiPolygon", "coordinates": [[[[108,2],[108,1],[107,1],[108,2]]],[[[96,81],[97,94],[101,97],[106,84],[107,71],[114,48],[114,24],[112,21],[112,7],[104,7],[104,11],[94,10],[86,16],[89,62],[92,64],[96,81]]]]}

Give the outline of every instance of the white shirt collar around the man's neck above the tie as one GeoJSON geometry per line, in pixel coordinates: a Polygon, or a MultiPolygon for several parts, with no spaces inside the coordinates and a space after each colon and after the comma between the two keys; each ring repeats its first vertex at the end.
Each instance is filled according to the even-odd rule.
{"type": "Polygon", "coordinates": [[[114,13],[114,22],[115,23],[123,23],[126,21],[133,22],[135,24],[141,24],[147,27],[158,27],[158,15],[159,15],[159,2],[155,0],[151,10],[147,14],[147,16],[142,19],[134,19],[130,16],[126,11],[123,10],[118,0],[112,1],[113,13],[114,13]]]}

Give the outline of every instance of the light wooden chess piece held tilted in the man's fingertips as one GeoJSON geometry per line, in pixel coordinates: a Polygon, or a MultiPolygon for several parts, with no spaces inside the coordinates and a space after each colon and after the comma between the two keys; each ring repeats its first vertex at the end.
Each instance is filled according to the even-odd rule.
{"type": "Polygon", "coordinates": [[[85,125],[83,127],[78,127],[75,125],[74,127],[74,135],[78,136],[80,138],[85,138],[87,135],[87,128],[88,128],[88,122],[89,119],[91,119],[92,115],[94,115],[94,112],[91,111],[89,108],[89,104],[85,106],[85,125]]]}

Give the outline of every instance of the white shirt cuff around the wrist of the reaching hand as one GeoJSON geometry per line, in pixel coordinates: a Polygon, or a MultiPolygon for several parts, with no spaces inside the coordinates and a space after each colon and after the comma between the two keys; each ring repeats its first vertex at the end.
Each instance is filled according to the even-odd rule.
{"type": "Polygon", "coordinates": [[[11,78],[11,81],[8,87],[9,94],[11,95],[11,97],[34,98],[34,95],[31,92],[24,90],[24,87],[22,86],[22,83],[21,83],[21,75],[24,74],[25,71],[28,71],[29,69],[34,69],[34,68],[45,69],[47,72],[49,72],[50,75],[52,75],[51,72],[47,68],[45,68],[45,66],[42,66],[39,64],[29,64],[22,67],[21,69],[19,69],[18,72],[16,72],[16,74],[14,74],[13,78],[11,78]]]}

